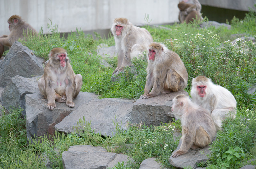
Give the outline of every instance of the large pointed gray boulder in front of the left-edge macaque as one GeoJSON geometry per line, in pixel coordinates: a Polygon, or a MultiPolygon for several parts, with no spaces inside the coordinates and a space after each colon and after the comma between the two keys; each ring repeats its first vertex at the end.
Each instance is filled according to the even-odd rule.
{"type": "Polygon", "coordinates": [[[20,42],[14,42],[9,52],[0,61],[0,87],[5,87],[13,76],[39,76],[44,73],[43,58],[32,54],[32,50],[20,42]]]}

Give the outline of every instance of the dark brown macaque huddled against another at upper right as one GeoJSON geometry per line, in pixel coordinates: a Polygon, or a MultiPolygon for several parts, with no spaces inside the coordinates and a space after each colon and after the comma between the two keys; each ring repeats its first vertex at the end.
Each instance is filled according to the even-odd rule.
{"type": "Polygon", "coordinates": [[[181,1],[178,4],[180,10],[180,22],[186,22],[187,24],[193,22],[193,19],[200,20],[200,13],[196,11],[196,5],[187,4],[181,1]]]}

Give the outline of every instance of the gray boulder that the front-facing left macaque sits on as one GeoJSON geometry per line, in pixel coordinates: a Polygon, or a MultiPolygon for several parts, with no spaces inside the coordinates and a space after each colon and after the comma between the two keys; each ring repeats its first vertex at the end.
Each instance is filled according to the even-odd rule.
{"type": "Polygon", "coordinates": [[[47,100],[43,95],[38,92],[26,95],[26,130],[27,130],[27,142],[31,141],[31,138],[38,136],[44,136],[54,134],[54,126],[61,122],[62,119],[68,116],[72,111],[79,108],[79,106],[85,104],[93,98],[97,98],[98,95],[93,93],[80,92],[79,95],[73,99],[75,103],[74,108],[70,108],[66,103],[56,102],[56,108],[53,111],[47,108],[47,100]]]}

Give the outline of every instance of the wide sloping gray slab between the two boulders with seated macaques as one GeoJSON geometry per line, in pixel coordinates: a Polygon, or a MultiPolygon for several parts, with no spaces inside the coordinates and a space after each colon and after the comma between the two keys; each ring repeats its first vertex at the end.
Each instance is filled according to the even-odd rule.
{"type": "Polygon", "coordinates": [[[95,133],[112,136],[116,124],[120,125],[122,130],[127,129],[133,104],[133,100],[127,99],[93,99],[70,113],[62,122],[55,125],[55,129],[65,133],[74,132],[77,122],[85,117],[86,121],[91,122],[91,128],[95,133]]]}

